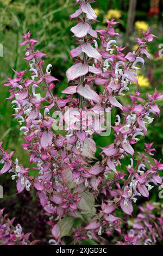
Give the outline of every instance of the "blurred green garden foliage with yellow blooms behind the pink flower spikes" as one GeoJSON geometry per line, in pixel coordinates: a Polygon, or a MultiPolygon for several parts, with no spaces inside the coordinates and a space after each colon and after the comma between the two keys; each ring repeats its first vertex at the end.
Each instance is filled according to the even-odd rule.
{"type": "MultiPolygon", "coordinates": [[[[135,17],[133,26],[130,26],[131,32],[128,34],[127,20],[129,15],[129,3],[133,0],[97,0],[92,4],[95,9],[98,20],[95,28],[102,28],[106,25],[105,17],[115,18],[121,22],[117,25],[117,32],[122,36],[117,41],[120,45],[128,45],[127,50],[134,50],[136,47],[135,39],[140,36],[140,30],[147,30],[152,27],[152,33],[158,36],[152,44],[148,45],[148,51],[152,54],[152,61],[146,59],[145,68],[140,72],[138,88],[142,96],[146,99],[147,93],[153,93],[154,87],[158,92],[162,92],[162,72],[163,57],[158,56],[159,45],[163,43],[162,28],[162,0],[140,1],[137,0],[135,8],[135,17]]],[[[25,166],[29,166],[28,153],[21,148],[23,143],[19,126],[14,117],[11,117],[13,110],[11,102],[5,101],[9,96],[9,88],[3,87],[7,77],[14,77],[15,70],[27,69],[27,63],[23,60],[25,47],[19,46],[22,41],[21,36],[31,31],[33,38],[39,40],[37,47],[42,52],[48,54],[45,59],[46,64],[53,65],[52,75],[57,77],[60,82],[57,84],[55,94],[61,95],[61,90],[67,87],[65,72],[72,65],[69,51],[74,47],[74,38],[70,28],[74,21],[70,21],[69,16],[77,9],[73,0],[0,0],[0,43],[3,45],[4,56],[0,57],[0,141],[4,141],[4,148],[9,151],[15,150],[15,157],[25,166]]],[[[134,15],[134,14],[133,14],[134,15]]],[[[129,21],[130,22],[130,21],[129,21]]],[[[134,94],[137,86],[130,86],[130,92],[121,99],[123,104],[130,103],[129,95],[134,94]]],[[[159,102],[161,106],[160,118],[148,126],[148,133],[145,139],[142,139],[136,146],[137,151],[143,150],[143,143],[154,142],[157,150],[156,159],[161,159],[163,154],[163,119],[162,107],[163,101],[159,102]]],[[[115,120],[115,112],[112,111],[112,121],[115,120]]],[[[108,137],[95,136],[97,145],[104,147],[110,143],[113,136],[108,137]]],[[[4,176],[1,179],[6,179],[4,176]]]]}

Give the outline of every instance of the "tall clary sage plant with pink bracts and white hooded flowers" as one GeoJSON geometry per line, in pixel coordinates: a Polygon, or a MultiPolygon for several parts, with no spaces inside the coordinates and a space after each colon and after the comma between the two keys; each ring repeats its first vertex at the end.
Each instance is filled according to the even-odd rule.
{"type": "MultiPolygon", "coordinates": [[[[62,97],[53,93],[58,79],[51,75],[51,64],[46,68],[43,65],[46,54],[37,50],[37,40],[31,38],[30,32],[23,36],[20,45],[27,47],[24,59],[28,69],[14,70],[16,77],[8,78],[4,86],[10,88],[8,99],[24,136],[22,148],[29,151],[29,164],[35,166],[31,167],[35,175],[14,158],[14,152],[5,151],[2,143],[1,174],[11,174],[18,193],[35,190],[49,217],[52,245],[77,245],[83,241],[154,245],[162,237],[163,228],[162,218],[152,214],[156,206],[139,205],[140,214],[132,216],[139,199],[148,200],[149,191],[161,186],[159,172],[163,164],[154,159],[153,143],[145,144],[139,157],[135,156],[135,144],[146,136],[147,126],[159,116],[156,100],[163,95],[155,90],[145,100],[137,90],[129,96],[131,104],[127,106],[122,105],[121,97],[137,83],[137,71],[146,58],[150,59],[147,44],[155,36],[150,29],[142,31],[142,37],[136,39],[137,50],[124,55],[124,47],[115,40],[120,36],[114,29],[118,22],[106,20],[106,28],[92,28],[97,15],[91,2],[94,1],[76,0],[78,9],[70,16],[77,22],[71,28],[76,47],[70,51],[74,64],[66,72],[69,85],[62,97]],[[115,107],[118,114],[111,125],[115,138],[101,149],[97,160],[93,135],[101,135],[107,129],[106,113],[115,107]],[[54,131],[57,124],[59,132],[54,131]],[[124,159],[128,159],[125,168],[124,159]],[[131,225],[124,233],[129,221],[131,225]]],[[[0,224],[1,243],[29,243],[21,226],[13,236],[9,225],[12,222],[0,224]]]]}

